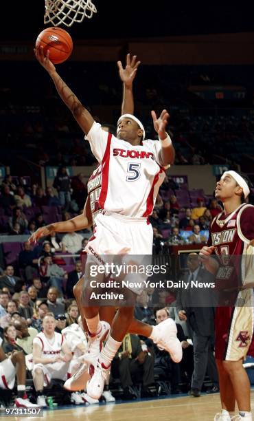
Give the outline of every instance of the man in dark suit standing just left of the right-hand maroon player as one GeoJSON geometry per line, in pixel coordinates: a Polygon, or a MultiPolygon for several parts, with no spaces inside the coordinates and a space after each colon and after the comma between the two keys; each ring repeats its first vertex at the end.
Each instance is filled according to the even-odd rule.
{"type": "Polygon", "coordinates": [[[189,271],[183,281],[189,282],[187,290],[178,291],[176,309],[180,320],[187,321],[193,331],[194,371],[190,394],[200,396],[206,371],[213,382],[210,393],[218,391],[218,373],[213,356],[215,292],[212,288],[190,288],[192,281],[213,283],[213,275],[200,266],[198,255],[187,257],[189,271]],[[194,295],[195,294],[195,295],[194,295]],[[198,307],[198,305],[203,307],[198,307]],[[205,306],[206,305],[206,306],[205,306]]]}

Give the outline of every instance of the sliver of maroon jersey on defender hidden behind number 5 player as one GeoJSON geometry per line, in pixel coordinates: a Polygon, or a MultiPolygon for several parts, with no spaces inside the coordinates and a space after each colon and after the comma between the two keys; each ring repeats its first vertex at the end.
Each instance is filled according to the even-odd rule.
{"type": "Polygon", "coordinates": [[[91,174],[87,182],[87,191],[93,217],[93,228],[95,227],[95,218],[98,213],[102,212],[99,205],[100,191],[102,189],[102,166],[98,166],[91,174]]]}

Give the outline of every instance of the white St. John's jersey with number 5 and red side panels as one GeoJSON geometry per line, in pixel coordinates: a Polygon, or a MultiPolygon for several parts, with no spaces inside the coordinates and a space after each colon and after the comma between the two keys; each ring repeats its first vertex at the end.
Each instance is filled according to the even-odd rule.
{"type": "Polygon", "coordinates": [[[165,178],[165,171],[159,165],[159,140],[143,140],[142,144],[133,146],[106,133],[97,122],[86,139],[102,165],[100,208],[127,217],[151,215],[165,178]]]}

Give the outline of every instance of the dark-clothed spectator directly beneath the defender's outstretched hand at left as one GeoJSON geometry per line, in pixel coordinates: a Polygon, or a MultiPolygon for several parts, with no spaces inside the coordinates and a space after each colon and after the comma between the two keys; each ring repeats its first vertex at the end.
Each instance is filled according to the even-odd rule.
{"type": "Polygon", "coordinates": [[[32,249],[29,241],[23,244],[23,250],[19,253],[19,268],[25,271],[25,280],[31,284],[32,279],[38,276],[38,252],[32,249]]]}

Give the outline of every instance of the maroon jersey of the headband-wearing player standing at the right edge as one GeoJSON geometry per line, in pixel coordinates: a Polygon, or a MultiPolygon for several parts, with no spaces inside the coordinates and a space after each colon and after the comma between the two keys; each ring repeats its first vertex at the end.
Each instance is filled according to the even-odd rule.
{"type": "Polygon", "coordinates": [[[254,239],[254,206],[242,204],[229,215],[224,211],[211,222],[208,246],[214,246],[214,252],[220,261],[216,274],[218,286],[237,288],[244,283],[242,255],[246,253],[251,239],[254,239]]]}

